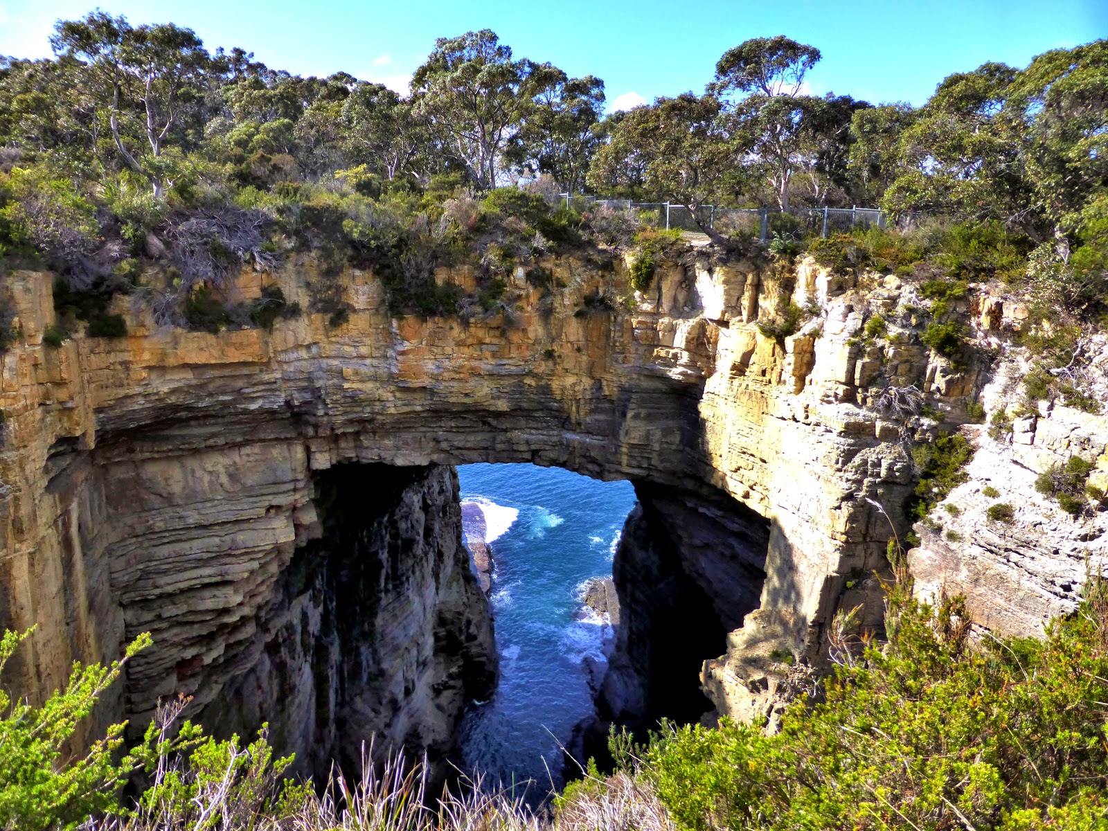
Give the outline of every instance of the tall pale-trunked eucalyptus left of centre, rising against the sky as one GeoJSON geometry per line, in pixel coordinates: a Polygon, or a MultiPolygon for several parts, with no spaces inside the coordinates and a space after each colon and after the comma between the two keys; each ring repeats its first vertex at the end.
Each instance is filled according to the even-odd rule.
{"type": "Polygon", "coordinates": [[[438,134],[442,152],[490,188],[535,99],[562,78],[548,63],[513,60],[489,29],[440,38],[412,76],[414,111],[438,134]]]}

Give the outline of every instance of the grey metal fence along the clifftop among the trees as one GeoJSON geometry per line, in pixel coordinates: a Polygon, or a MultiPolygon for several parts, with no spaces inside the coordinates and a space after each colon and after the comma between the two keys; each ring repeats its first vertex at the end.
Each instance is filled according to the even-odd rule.
{"type": "MultiPolygon", "coordinates": [[[[602,199],[579,194],[552,194],[547,198],[554,204],[565,204],[578,211],[607,208],[635,217],[643,225],[678,230],[701,230],[690,211],[685,205],[671,202],[634,202],[632,199],[602,199]]],[[[757,234],[767,242],[773,234],[819,234],[825,237],[835,232],[850,230],[861,225],[876,225],[884,228],[888,214],[880,208],[725,208],[701,205],[700,223],[720,233],[746,232],[757,234]]]]}

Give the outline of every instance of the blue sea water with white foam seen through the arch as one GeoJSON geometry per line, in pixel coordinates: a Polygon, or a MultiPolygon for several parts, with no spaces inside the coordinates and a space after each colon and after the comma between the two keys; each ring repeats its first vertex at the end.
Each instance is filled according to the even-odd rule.
{"type": "Polygon", "coordinates": [[[533,464],[468,464],[458,475],[489,525],[501,666],[492,699],[463,719],[463,761],[492,786],[534,780],[533,797],[561,787],[560,745],[593,711],[583,661],[604,659],[612,627],[575,613],[583,584],[612,574],[635,490],[533,464]]]}

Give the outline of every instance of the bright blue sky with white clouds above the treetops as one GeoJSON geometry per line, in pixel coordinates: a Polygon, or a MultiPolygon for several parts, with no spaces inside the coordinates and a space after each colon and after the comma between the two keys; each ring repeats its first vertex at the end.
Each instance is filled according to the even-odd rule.
{"type": "MultiPolygon", "coordinates": [[[[0,54],[49,54],[58,18],[95,0],[0,0],[0,54]]],[[[345,70],[402,88],[437,37],[493,29],[517,57],[607,85],[609,105],[701,91],[720,54],[747,38],[788,34],[823,60],[814,93],[923,103],[951,72],[1108,35],[1108,0],[101,0],[134,22],[172,20],[206,45],[239,45],[300,74],[345,70]]]]}

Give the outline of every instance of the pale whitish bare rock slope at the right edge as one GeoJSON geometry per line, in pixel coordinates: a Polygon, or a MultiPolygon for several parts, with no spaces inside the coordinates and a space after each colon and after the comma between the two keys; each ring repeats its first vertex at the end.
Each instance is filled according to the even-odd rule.
{"type": "MultiPolygon", "coordinates": [[[[991,392],[1003,406],[1001,390],[991,392]]],[[[921,544],[909,565],[916,591],[965,595],[981,627],[1042,635],[1049,618],[1077,607],[1088,576],[1105,570],[1108,513],[1091,503],[1075,516],[1036,491],[1036,480],[1077,456],[1096,465],[1088,483],[1099,488],[1108,480],[1108,418],[1043,404],[1016,419],[1010,433],[963,431],[975,445],[966,481],[915,525],[921,544]],[[995,506],[1010,514],[991,516],[995,506]]]]}

